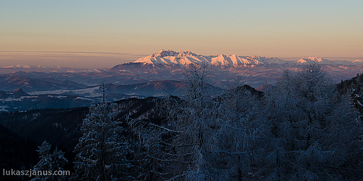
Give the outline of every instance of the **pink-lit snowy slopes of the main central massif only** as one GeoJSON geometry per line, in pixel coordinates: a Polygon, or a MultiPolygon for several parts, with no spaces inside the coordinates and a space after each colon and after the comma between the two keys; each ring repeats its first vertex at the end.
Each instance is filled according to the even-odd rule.
{"type": "Polygon", "coordinates": [[[226,56],[225,54],[220,54],[216,56],[203,56],[200,54],[195,54],[191,51],[175,52],[172,50],[161,50],[156,54],[151,54],[139,58],[134,63],[143,64],[154,64],[154,65],[189,65],[189,64],[207,64],[207,65],[217,65],[224,67],[246,67],[254,65],[269,65],[269,64],[286,64],[287,61],[283,61],[279,58],[266,58],[262,56],[237,56],[232,54],[226,56]]]}

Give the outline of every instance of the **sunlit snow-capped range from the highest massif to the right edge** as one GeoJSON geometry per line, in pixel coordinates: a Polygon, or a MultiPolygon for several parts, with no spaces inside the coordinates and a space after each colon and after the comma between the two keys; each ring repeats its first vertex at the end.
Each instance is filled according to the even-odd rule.
{"type": "Polygon", "coordinates": [[[242,68],[242,67],[254,67],[256,65],[301,65],[317,61],[325,65],[363,65],[363,61],[329,61],[324,58],[318,57],[303,57],[299,61],[285,61],[280,58],[272,57],[267,58],[265,56],[237,56],[232,54],[227,56],[220,54],[216,56],[203,56],[195,54],[189,50],[182,52],[175,52],[172,50],[162,49],[156,54],[151,54],[139,58],[133,63],[152,64],[152,65],[216,65],[224,68],[242,68]]]}

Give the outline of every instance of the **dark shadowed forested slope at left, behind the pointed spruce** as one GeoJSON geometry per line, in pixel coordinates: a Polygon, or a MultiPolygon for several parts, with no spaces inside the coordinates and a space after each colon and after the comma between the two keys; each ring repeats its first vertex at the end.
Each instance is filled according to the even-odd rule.
{"type": "MultiPolygon", "coordinates": [[[[155,99],[155,97],[147,97],[117,101],[119,109],[122,110],[117,114],[117,119],[137,118],[154,107],[155,99]]],[[[73,170],[75,157],[73,149],[82,134],[80,127],[87,113],[89,113],[89,107],[0,113],[1,168],[29,170],[38,162],[36,145],[47,140],[65,151],[65,157],[71,161],[66,168],[73,170]]],[[[127,127],[127,124],[123,126],[127,127]]],[[[2,173],[1,176],[3,176],[2,173]]],[[[3,177],[3,179],[28,180],[29,178],[3,177]]]]}

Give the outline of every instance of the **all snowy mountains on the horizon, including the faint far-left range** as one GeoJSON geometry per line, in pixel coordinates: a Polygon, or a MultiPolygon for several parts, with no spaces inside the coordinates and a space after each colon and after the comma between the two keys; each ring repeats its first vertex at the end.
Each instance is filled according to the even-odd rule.
{"type": "MultiPolygon", "coordinates": [[[[299,61],[285,61],[281,58],[276,57],[265,57],[265,56],[237,56],[236,54],[231,54],[229,56],[225,54],[212,55],[212,56],[204,56],[201,54],[195,54],[190,50],[175,52],[173,50],[164,50],[162,49],[160,52],[151,54],[149,56],[145,56],[139,58],[133,63],[141,63],[142,65],[163,65],[163,66],[175,66],[175,65],[190,65],[190,64],[198,64],[198,65],[215,65],[221,68],[246,68],[246,67],[263,67],[274,65],[275,67],[295,67],[295,65],[304,65],[306,63],[316,61],[322,65],[363,65],[363,61],[355,60],[355,61],[330,61],[325,58],[318,57],[302,57],[299,61]]],[[[122,65],[122,64],[119,64],[122,65]]],[[[114,67],[117,67],[116,65],[114,67]]],[[[61,66],[43,66],[43,65],[10,65],[6,67],[0,68],[1,72],[8,73],[13,70],[24,70],[27,72],[36,71],[36,72],[48,72],[48,71],[75,71],[75,72],[84,72],[90,71],[85,69],[75,69],[75,68],[65,68],[61,66]]],[[[91,72],[99,72],[98,70],[91,70],[91,72]]]]}

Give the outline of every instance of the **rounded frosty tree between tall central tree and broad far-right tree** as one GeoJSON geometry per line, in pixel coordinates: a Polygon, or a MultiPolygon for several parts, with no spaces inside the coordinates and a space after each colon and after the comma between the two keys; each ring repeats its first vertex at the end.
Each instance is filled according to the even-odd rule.
{"type": "MultiPolygon", "coordinates": [[[[260,94],[253,88],[234,84],[218,97],[213,113],[220,120],[216,139],[218,155],[228,169],[228,179],[259,178],[264,154],[266,121],[259,118],[260,94]]],[[[222,165],[222,164],[220,164],[222,165]]]]}

